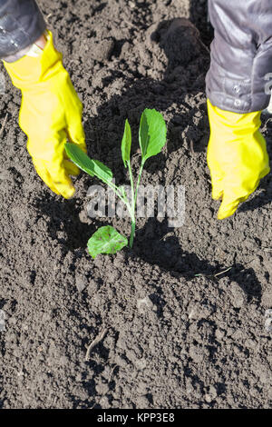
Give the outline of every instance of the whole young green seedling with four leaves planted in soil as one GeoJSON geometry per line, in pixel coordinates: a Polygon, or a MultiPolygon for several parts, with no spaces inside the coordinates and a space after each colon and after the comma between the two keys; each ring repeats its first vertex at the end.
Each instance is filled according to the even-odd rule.
{"type": "MultiPolygon", "coordinates": [[[[105,164],[98,160],[92,160],[75,144],[65,144],[65,151],[68,157],[80,167],[84,172],[91,176],[96,176],[104,184],[109,185],[114,193],[126,205],[129,214],[131,215],[131,237],[130,247],[133,245],[135,235],[135,209],[137,204],[138,188],[141,182],[141,174],[143,166],[148,158],[159,154],[161,148],[166,143],[166,124],[162,115],[152,109],[146,108],[141,114],[141,122],[139,129],[139,144],[141,147],[141,166],[136,184],[133,181],[131,170],[131,126],[126,120],[124,133],[121,140],[121,158],[123,164],[129,169],[131,180],[131,200],[129,200],[122,186],[117,186],[112,182],[112,171],[105,164]]],[[[118,233],[111,225],[100,227],[88,241],[88,250],[95,258],[99,253],[116,253],[124,246],[128,245],[128,240],[125,236],[118,233]]]]}

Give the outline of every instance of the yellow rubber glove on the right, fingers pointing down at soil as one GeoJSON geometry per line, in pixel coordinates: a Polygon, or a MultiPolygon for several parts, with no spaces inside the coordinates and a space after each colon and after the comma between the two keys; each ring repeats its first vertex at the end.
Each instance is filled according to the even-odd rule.
{"type": "Polygon", "coordinates": [[[261,112],[237,114],[220,110],[208,100],[209,145],[207,160],[212,197],[222,199],[218,218],[235,213],[238,204],[270,171],[267,144],[259,132],[261,112]]]}

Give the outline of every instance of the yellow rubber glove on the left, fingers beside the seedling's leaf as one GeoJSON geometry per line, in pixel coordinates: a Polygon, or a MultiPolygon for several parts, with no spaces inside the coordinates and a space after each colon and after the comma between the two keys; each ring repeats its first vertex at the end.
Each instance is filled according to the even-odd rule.
{"type": "Polygon", "coordinates": [[[83,106],[63,68],[63,55],[53,46],[52,33],[46,38],[44,51],[37,57],[24,55],[4,65],[22,91],[19,124],[28,136],[34,167],[55,194],[70,198],[74,187],[69,175],[79,174],[79,169],[68,160],[64,144],[68,139],[86,151],[83,106]]]}

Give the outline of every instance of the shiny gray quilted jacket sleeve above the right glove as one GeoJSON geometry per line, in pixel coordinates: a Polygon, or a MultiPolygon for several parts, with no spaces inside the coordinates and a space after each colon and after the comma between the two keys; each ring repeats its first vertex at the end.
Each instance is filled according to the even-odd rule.
{"type": "Polygon", "coordinates": [[[234,113],[265,109],[272,75],[272,1],[209,0],[209,16],[215,29],[206,77],[211,104],[234,113]]]}

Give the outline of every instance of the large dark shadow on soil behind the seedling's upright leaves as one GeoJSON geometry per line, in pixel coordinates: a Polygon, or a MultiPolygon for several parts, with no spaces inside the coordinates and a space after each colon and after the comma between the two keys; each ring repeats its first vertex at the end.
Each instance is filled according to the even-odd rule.
{"type": "MultiPolygon", "coordinates": [[[[167,155],[185,144],[181,134],[188,125],[191,127],[189,139],[194,151],[205,151],[208,142],[208,138],[205,138],[209,134],[206,103],[191,105],[188,102],[189,94],[203,94],[205,91],[205,75],[209,68],[209,52],[199,42],[198,30],[188,20],[175,18],[160,22],[151,33],[150,40],[151,44],[159,45],[168,58],[164,78],[157,81],[134,73],[131,81],[127,82],[129,89],[118,95],[113,94],[108,102],[99,107],[97,115],[85,124],[86,140],[90,142],[89,154],[112,165],[117,171],[117,179],[123,179],[119,170],[123,170],[120,142],[124,121],[128,118],[131,124],[131,154],[137,155],[138,143],[136,146],[133,142],[138,141],[138,126],[144,108],[156,108],[163,112],[172,104],[184,107],[184,113],[175,115],[168,123],[167,155]],[[201,117],[198,125],[194,126],[192,117],[199,109],[202,110],[201,117]]],[[[118,57],[120,52],[115,55],[118,57]]],[[[121,70],[114,70],[107,80],[122,77],[121,70]]],[[[161,170],[165,161],[165,155],[160,154],[156,161],[147,162],[145,169],[153,173],[158,171],[160,165],[161,170]]]]}

